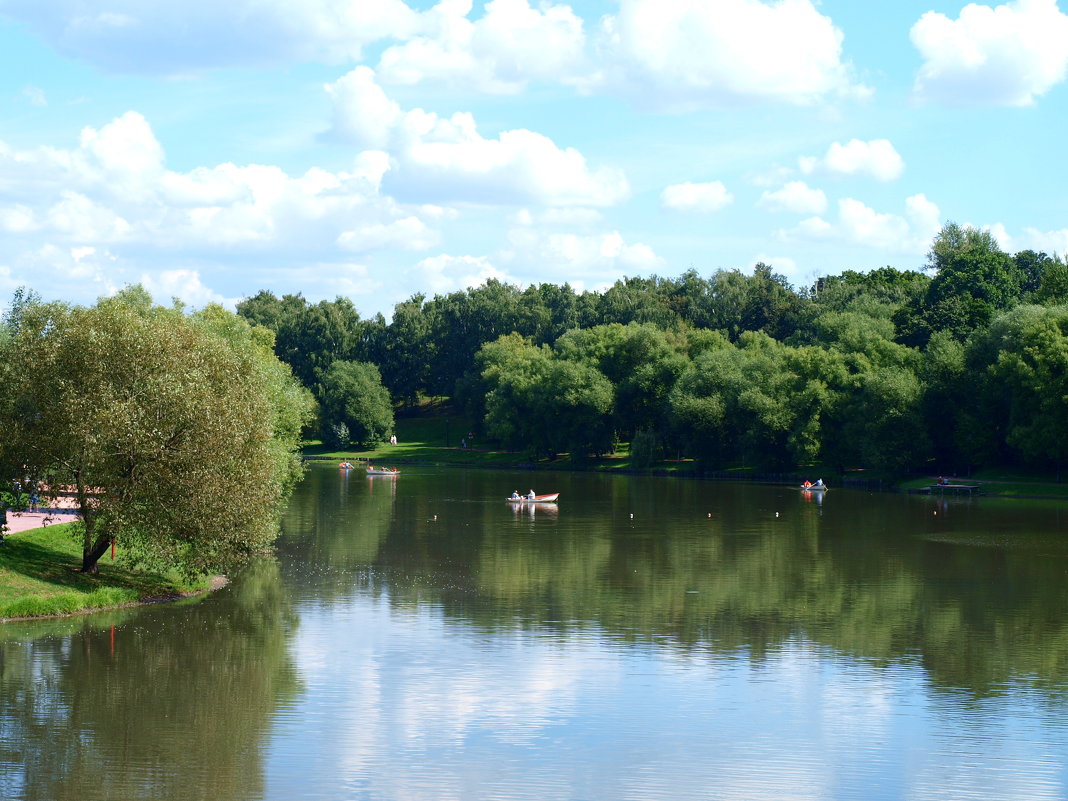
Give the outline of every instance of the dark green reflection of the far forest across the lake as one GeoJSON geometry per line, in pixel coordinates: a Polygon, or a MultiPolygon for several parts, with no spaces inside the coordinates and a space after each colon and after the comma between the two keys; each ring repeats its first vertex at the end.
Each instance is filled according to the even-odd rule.
{"type": "Polygon", "coordinates": [[[339,594],[374,577],[394,603],[485,631],[596,625],[755,660],[802,635],[876,664],[918,658],[978,695],[1068,679],[1054,507],[588,475],[562,477],[556,505],[492,502],[515,483],[409,473],[391,492],[309,492],[289,543],[351,578],[339,594]]]}

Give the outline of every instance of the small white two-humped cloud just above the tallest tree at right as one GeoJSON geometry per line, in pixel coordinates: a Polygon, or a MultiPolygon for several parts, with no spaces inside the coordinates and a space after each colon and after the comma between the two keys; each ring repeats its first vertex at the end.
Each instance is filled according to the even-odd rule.
{"type": "Polygon", "coordinates": [[[795,229],[780,232],[785,239],[845,242],[878,248],[894,253],[924,253],[941,227],[937,205],[923,194],[905,201],[905,214],[876,211],[861,201],[838,201],[838,219],[821,217],[802,220],[795,229]]]}

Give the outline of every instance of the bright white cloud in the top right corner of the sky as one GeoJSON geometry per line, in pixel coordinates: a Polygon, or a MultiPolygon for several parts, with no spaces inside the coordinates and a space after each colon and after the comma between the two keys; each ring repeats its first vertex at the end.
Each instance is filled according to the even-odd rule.
{"type": "Polygon", "coordinates": [[[929,100],[1031,106],[1068,68],[1068,16],[1056,0],[970,3],[955,20],[929,11],[909,36],[924,58],[915,93],[929,100]]]}

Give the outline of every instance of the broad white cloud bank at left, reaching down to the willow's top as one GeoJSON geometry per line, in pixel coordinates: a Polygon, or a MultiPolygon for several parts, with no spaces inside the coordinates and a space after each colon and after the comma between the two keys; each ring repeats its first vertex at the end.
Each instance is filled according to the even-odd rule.
{"type": "Polygon", "coordinates": [[[264,265],[280,262],[331,265],[336,280],[329,286],[305,282],[321,284],[324,296],[365,293],[380,284],[349,265],[348,253],[426,250],[439,239],[436,222],[454,215],[382,195],[389,169],[388,155],[367,152],[348,171],[290,175],[233,163],[170,170],[151,125],[135,112],[84,128],[69,148],[0,142],[4,266],[82,301],[140,281],[193,304],[229,303],[208,286],[225,279],[220,265],[273,285],[264,265]]]}

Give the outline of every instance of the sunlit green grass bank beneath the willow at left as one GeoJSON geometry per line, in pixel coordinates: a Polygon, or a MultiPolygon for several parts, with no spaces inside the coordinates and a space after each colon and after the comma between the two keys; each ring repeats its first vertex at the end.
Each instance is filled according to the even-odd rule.
{"type": "Polygon", "coordinates": [[[207,588],[175,576],[131,570],[105,557],[100,572],[79,572],[73,523],[11,534],[0,547],[0,619],[74,614],[173,598],[207,588]]]}

